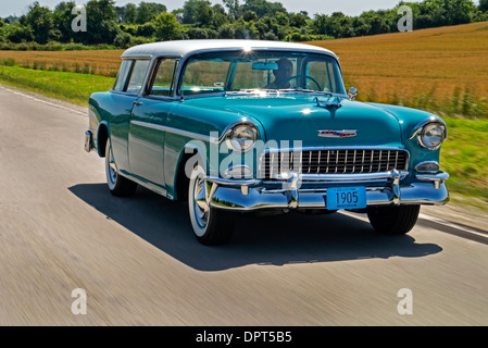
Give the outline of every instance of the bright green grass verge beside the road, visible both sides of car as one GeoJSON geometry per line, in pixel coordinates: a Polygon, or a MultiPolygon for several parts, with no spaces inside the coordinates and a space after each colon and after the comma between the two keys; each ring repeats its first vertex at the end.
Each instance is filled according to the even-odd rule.
{"type": "MultiPolygon", "coordinates": [[[[0,83],[87,105],[91,92],[109,90],[114,78],[0,66],[0,83]]],[[[441,169],[451,175],[452,201],[488,210],[488,121],[442,116],[448,139],[441,150],[441,169]]]]}

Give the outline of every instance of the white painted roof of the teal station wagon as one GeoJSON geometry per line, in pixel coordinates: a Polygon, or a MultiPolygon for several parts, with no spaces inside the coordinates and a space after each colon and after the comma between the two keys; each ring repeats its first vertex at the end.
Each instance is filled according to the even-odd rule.
{"type": "Polygon", "coordinates": [[[266,41],[266,40],[176,40],[143,44],[127,49],[122,58],[133,57],[185,57],[189,53],[203,50],[218,50],[218,49],[278,49],[292,51],[309,51],[317,53],[326,53],[338,59],[337,55],[318,46],[283,42],[283,41],[266,41]]]}

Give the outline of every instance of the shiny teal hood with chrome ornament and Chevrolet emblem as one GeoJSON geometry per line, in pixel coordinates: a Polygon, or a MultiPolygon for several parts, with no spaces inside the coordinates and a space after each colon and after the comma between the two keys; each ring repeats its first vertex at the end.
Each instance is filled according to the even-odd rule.
{"type": "MultiPolygon", "coordinates": [[[[303,147],[402,147],[401,128],[397,117],[377,105],[350,101],[347,98],[320,96],[266,95],[199,98],[193,101],[209,103],[212,109],[238,113],[261,123],[265,141],[302,141],[303,147]],[[355,136],[321,137],[320,130],[355,130],[355,136]]],[[[281,147],[281,146],[280,146],[281,147]]]]}

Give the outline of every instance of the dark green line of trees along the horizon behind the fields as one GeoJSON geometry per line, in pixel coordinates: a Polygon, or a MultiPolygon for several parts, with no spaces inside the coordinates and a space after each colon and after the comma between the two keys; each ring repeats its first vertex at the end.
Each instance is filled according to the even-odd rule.
{"type": "Polygon", "coordinates": [[[115,5],[113,0],[89,0],[85,7],[86,30],[73,29],[74,1],[53,10],[34,2],[18,18],[0,20],[0,44],[61,42],[127,48],[157,40],[260,39],[312,41],[398,32],[401,5],[412,9],[413,29],[488,21],[488,0],[424,0],[399,2],[393,9],[366,11],[358,16],[308,11],[288,12],[280,2],[267,0],[187,0],[167,12],[162,3],[115,5]]]}

